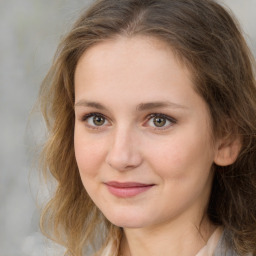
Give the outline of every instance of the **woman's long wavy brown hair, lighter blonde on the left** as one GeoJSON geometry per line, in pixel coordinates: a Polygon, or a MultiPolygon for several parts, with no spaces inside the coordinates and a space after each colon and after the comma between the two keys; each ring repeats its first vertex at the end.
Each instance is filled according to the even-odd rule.
{"type": "Polygon", "coordinates": [[[99,0],[60,43],[40,90],[48,127],[41,169],[57,181],[41,216],[43,233],[81,256],[102,249],[122,231],[110,223],[83,187],[74,154],[74,73],[91,46],[117,36],[167,43],[185,63],[208,105],[213,137],[241,139],[234,164],[213,164],[207,214],[222,225],[241,255],[256,254],[256,83],[254,58],[232,15],[213,0],[99,0]]]}

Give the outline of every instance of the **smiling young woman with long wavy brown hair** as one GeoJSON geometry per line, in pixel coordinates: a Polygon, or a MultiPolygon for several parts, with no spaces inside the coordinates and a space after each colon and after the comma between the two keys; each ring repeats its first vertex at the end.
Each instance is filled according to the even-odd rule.
{"type": "Polygon", "coordinates": [[[42,214],[67,255],[256,255],[252,55],[212,0],[101,0],[41,88],[42,214]]]}

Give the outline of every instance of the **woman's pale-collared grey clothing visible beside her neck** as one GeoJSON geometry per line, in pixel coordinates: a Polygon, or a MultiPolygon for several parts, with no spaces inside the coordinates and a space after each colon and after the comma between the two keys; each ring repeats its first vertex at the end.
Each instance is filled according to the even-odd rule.
{"type": "MultiPolygon", "coordinates": [[[[222,228],[217,228],[207,244],[195,256],[239,256],[232,248],[227,247],[224,237],[225,231],[222,228]]],[[[115,256],[112,249],[112,244],[108,244],[101,256],[115,256]]],[[[252,256],[252,254],[247,256],[252,256]]]]}

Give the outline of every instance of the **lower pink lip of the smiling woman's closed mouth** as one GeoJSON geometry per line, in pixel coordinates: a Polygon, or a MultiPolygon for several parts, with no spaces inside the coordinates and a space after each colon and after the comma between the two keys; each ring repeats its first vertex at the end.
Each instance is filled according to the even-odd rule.
{"type": "Polygon", "coordinates": [[[128,197],[134,197],[137,196],[143,192],[146,192],[150,188],[152,188],[153,185],[150,186],[141,186],[141,187],[128,187],[128,188],[123,188],[123,187],[115,187],[115,186],[110,186],[107,185],[107,188],[111,194],[117,197],[121,198],[128,198],[128,197]]]}

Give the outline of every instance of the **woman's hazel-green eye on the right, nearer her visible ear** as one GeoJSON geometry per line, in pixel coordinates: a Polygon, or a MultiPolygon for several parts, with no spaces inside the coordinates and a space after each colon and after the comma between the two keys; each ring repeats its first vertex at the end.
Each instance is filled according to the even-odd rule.
{"type": "Polygon", "coordinates": [[[150,114],[147,125],[156,129],[166,129],[175,124],[177,121],[164,114],[150,114]]]}

